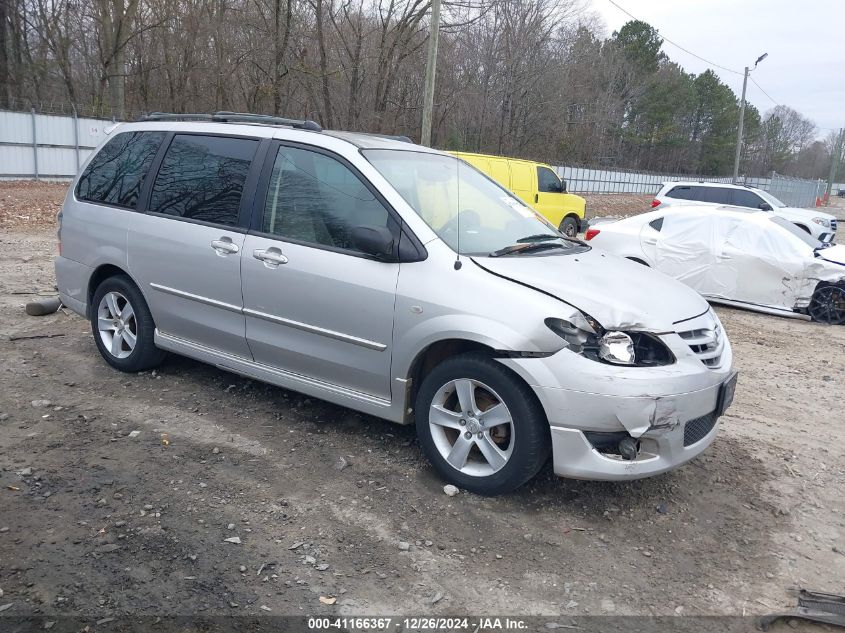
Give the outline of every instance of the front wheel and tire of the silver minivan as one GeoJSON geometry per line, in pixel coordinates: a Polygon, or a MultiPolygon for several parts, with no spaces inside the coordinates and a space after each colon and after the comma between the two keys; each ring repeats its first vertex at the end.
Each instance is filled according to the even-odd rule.
{"type": "Polygon", "coordinates": [[[549,424],[534,392],[492,358],[447,359],[420,385],[420,445],[446,481],[481,495],[515,490],[550,451],[549,424]]]}

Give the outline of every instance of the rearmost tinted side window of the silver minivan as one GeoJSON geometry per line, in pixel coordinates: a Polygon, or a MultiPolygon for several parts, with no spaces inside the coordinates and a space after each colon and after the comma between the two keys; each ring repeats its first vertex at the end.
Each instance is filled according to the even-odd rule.
{"type": "Polygon", "coordinates": [[[134,209],[164,136],[164,132],[117,134],[88,163],[76,185],[76,197],[134,209]]]}

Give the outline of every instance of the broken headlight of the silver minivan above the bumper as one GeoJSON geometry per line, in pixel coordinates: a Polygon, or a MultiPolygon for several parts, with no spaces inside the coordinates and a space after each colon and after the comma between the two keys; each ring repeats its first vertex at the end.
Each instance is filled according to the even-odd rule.
{"type": "Polygon", "coordinates": [[[580,312],[568,319],[546,319],[546,326],[566,341],[570,351],[600,363],[656,367],[675,362],[675,356],[658,337],[646,332],[606,331],[598,321],[580,312]]]}

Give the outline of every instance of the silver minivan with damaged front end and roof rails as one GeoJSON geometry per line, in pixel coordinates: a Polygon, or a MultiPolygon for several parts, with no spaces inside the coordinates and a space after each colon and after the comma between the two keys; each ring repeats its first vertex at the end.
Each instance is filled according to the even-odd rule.
{"type": "Polygon", "coordinates": [[[173,352],[400,424],[447,481],[513,490],[701,453],[736,385],[686,286],[561,235],[406,140],[218,113],[118,126],[59,214],[103,358],[173,352]]]}

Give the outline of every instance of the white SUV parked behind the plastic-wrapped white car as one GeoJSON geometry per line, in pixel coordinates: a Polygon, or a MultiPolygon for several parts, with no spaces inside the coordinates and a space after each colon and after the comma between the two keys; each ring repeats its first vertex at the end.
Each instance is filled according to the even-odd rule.
{"type": "Polygon", "coordinates": [[[817,240],[832,242],[836,235],[836,218],[812,209],[788,207],[772,194],[755,187],[718,182],[665,182],[651,203],[652,209],[682,205],[732,205],[770,211],[817,240]]]}

